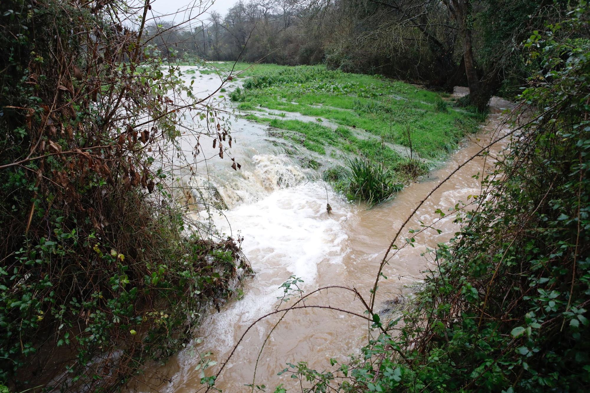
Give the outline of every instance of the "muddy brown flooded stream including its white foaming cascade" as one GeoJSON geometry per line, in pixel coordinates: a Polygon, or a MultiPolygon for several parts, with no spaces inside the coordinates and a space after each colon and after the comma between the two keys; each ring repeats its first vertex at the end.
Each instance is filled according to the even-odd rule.
{"type": "MultiPolygon", "coordinates": [[[[209,77],[199,78],[199,86],[205,86],[201,90],[218,86],[219,78],[209,77]]],[[[129,391],[180,393],[202,389],[201,370],[196,369],[198,352],[212,352],[211,359],[218,365],[211,371],[216,372],[245,329],[276,309],[277,297],[283,294],[279,286],[290,276],[304,281],[301,289],[306,293],[322,286],[340,285],[355,287],[368,299],[379,262],[412,210],[458,165],[487,145],[492,135],[506,132],[499,129],[499,112],[510,104],[498,99],[492,104],[494,113],[480,132],[467,139],[439,169],[407,186],[391,201],[371,209],[350,204],[319,180],[320,176],[312,169],[301,168],[295,159],[281,153],[280,148],[267,140],[266,126],[245,120],[233,122],[232,136],[236,142],[231,152],[242,164],[242,170],[234,171],[227,160],[209,161],[208,174],[215,179],[228,207],[223,214],[215,213],[214,221],[221,232],[244,237],[243,250],[256,274],[245,282],[241,300],[232,300],[221,307],[221,312],[207,316],[199,331],[201,343],[192,343],[194,348],[179,352],[165,366],[148,369],[145,375],[130,381],[129,391]],[[333,209],[330,215],[326,212],[326,196],[333,209]],[[166,378],[160,379],[163,375],[166,378]]],[[[505,146],[506,141],[497,143],[492,152],[497,154],[505,146]]],[[[468,196],[479,195],[481,176],[473,175],[486,173],[491,165],[491,156],[478,157],[461,168],[422,205],[402,231],[401,238],[406,237],[407,229],[419,228],[418,220],[428,225],[440,218],[436,209],[446,212],[459,201],[467,202],[468,196]]],[[[453,216],[447,215],[435,228],[441,232],[422,232],[415,237],[415,247],[402,248],[389,261],[383,271],[388,280],[382,280],[379,286],[378,310],[387,307],[387,300],[411,296],[415,284],[421,281],[421,272],[429,264],[429,259],[421,254],[448,241],[458,226],[453,223],[453,216]]],[[[363,312],[362,304],[352,293],[337,289],[316,293],[306,304],[363,312]]],[[[224,392],[250,391],[244,384],[253,382],[261,344],[279,317],[270,316],[250,329],[219,376],[217,388],[224,392]]],[[[366,343],[366,335],[367,323],[358,317],[336,310],[293,310],[264,347],[255,382],[267,385],[267,391],[273,391],[279,384],[293,387],[297,380],[289,374],[277,376],[287,362],[307,361],[310,368],[330,369],[330,358],[344,361],[343,356],[358,353],[366,343]]],[[[298,386],[288,390],[297,391],[298,386]]]]}

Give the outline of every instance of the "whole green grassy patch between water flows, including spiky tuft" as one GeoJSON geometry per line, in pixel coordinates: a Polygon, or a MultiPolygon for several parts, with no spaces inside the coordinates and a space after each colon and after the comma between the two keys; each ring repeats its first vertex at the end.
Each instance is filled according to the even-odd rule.
{"type": "Polygon", "coordinates": [[[280,129],[275,136],[317,155],[352,157],[348,169],[331,168],[324,177],[351,199],[369,204],[389,198],[399,191],[399,183],[427,172],[418,158],[444,158],[486,116],[455,110],[440,94],[411,84],[324,66],[219,63],[217,67],[221,74],[233,70],[243,81],[228,96],[239,110],[256,112],[246,119],[280,129]],[[315,120],[286,119],[286,113],[315,120]],[[332,124],[327,126],[324,120],[332,124]],[[403,154],[404,148],[412,151],[412,159],[403,154]]]}

